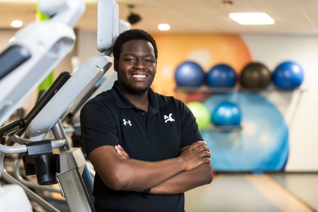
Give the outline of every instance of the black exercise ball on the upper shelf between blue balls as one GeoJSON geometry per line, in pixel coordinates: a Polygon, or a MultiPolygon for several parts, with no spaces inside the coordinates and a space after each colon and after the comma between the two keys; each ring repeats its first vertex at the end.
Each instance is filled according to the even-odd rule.
{"type": "Polygon", "coordinates": [[[250,63],[242,70],[240,81],[245,88],[266,88],[271,82],[271,72],[262,63],[250,63]]]}

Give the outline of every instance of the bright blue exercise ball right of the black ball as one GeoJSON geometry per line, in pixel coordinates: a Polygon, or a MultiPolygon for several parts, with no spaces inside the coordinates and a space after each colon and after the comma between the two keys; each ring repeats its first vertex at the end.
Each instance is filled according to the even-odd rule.
{"type": "Polygon", "coordinates": [[[304,71],[298,63],[287,61],[277,66],[273,73],[273,81],[277,88],[294,89],[304,80],[304,71]]]}

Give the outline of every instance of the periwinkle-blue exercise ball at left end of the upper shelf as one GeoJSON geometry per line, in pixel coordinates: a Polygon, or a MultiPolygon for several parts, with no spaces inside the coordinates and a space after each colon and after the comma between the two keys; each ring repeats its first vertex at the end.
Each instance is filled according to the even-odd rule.
{"type": "Polygon", "coordinates": [[[177,86],[199,87],[204,82],[204,71],[199,64],[186,61],[176,68],[175,80],[177,86]]]}

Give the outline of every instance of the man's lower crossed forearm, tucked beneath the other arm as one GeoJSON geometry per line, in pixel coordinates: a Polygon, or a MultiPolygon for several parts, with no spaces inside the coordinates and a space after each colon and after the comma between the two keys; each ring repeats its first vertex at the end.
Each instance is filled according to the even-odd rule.
{"type": "Polygon", "coordinates": [[[151,194],[180,194],[212,181],[211,163],[203,163],[190,171],[182,171],[151,188],[151,194]]]}

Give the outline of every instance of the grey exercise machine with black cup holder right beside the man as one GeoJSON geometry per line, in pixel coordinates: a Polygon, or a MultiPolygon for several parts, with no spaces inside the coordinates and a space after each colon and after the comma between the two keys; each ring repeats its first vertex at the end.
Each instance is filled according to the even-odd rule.
{"type": "MultiPolygon", "coordinates": [[[[118,4],[114,0],[98,1],[97,25],[97,46],[101,55],[88,58],[60,89],[55,90],[52,98],[40,108],[29,124],[24,120],[17,120],[0,129],[2,136],[10,134],[10,139],[14,142],[28,142],[20,146],[0,145],[0,170],[3,178],[10,183],[24,186],[1,168],[3,153],[24,153],[26,175],[36,174],[39,185],[59,183],[72,212],[94,211],[92,196],[89,195],[93,181],[81,150],[70,147],[61,120],[112,66],[112,45],[118,36],[118,4]],[[21,129],[26,129],[29,139],[12,134],[21,129]],[[50,131],[54,141],[45,140],[50,131]],[[60,153],[53,154],[52,148],[59,148],[60,153]]],[[[31,194],[25,186],[23,188],[29,198],[42,202],[40,197],[31,194]]],[[[42,202],[42,206],[49,211],[56,211],[45,202],[42,202]]]]}

